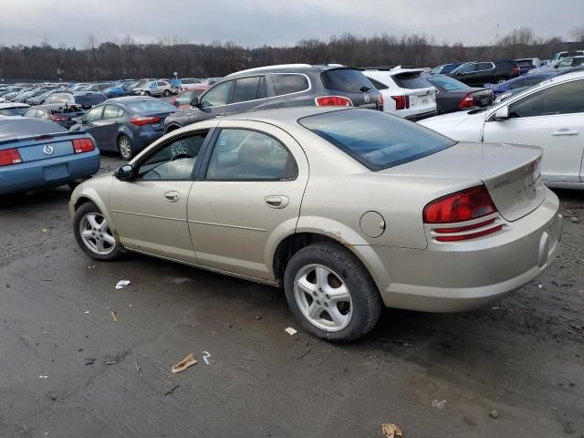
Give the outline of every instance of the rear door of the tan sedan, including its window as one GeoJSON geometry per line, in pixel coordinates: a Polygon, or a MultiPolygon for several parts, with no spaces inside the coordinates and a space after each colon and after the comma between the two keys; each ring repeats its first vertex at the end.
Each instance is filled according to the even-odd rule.
{"type": "Polygon", "coordinates": [[[189,228],[197,263],[273,279],[270,250],[295,229],[308,182],[308,161],[273,125],[224,120],[204,178],[189,194],[189,228]]]}

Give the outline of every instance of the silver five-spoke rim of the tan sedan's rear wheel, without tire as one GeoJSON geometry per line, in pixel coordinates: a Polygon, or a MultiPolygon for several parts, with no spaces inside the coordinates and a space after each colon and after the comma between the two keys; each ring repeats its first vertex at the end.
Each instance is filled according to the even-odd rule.
{"type": "Polygon", "coordinates": [[[332,269],[304,266],[294,279],[294,296],[298,308],[314,326],[339,331],[349,325],[353,309],[349,287],[332,269]]]}

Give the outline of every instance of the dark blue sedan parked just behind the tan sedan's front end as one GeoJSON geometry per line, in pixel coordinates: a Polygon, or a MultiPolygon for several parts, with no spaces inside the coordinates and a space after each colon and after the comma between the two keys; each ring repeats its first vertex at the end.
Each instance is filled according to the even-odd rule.
{"type": "Polygon", "coordinates": [[[176,107],[161,99],[127,97],[109,99],[75,120],[71,130],[87,130],[100,151],[119,151],[130,160],[164,133],[164,120],[176,107]]]}

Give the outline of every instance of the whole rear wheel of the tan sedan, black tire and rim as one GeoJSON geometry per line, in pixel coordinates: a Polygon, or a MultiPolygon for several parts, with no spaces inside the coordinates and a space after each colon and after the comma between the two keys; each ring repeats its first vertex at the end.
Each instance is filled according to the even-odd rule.
{"type": "Polygon", "coordinates": [[[340,245],[298,251],[286,267],[284,288],[298,323],[320,339],[359,339],[381,315],[381,297],[369,273],[340,245]]]}

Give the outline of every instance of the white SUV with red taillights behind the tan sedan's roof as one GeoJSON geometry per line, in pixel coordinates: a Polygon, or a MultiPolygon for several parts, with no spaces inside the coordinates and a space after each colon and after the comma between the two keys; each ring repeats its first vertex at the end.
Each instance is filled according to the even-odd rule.
{"type": "Polygon", "coordinates": [[[383,110],[407,120],[422,120],[438,114],[437,89],[422,76],[422,68],[363,69],[383,96],[383,110]]]}

